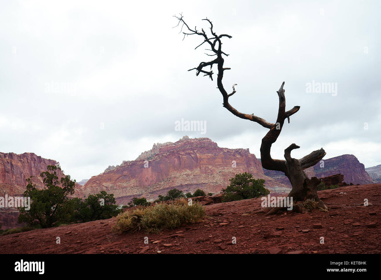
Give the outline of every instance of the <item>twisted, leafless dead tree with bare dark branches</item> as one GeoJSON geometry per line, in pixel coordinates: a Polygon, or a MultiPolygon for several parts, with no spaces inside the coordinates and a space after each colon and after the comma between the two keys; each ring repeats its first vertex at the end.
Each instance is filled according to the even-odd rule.
{"type": "MultiPolygon", "coordinates": [[[[317,186],[321,182],[320,179],[317,177],[312,177],[311,179],[308,178],[306,173],[304,173],[304,169],[309,168],[311,166],[314,166],[316,163],[318,163],[324,156],[325,151],[323,148],[320,150],[315,150],[309,155],[306,155],[305,157],[301,159],[296,159],[291,157],[291,151],[293,149],[298,149],[299,146],[296,144],[291,144],[287,149],[285,149],[285,160],[278,160],[271,158],[270,150],[271,145],[277,140],[280,132],[282,131],[283,124],[285,122],[285,119],[287,118],[288,123],[290,123],[290,117],[298,112],[300,106],[295,106],[292,109],[286,111],[286,99],[285,99],[285,90],[283,89],[283,86],[285,82],[282,83],[282,85],[279,88],[279,91],[277,91],[277,94],[279,96],[279,110],[278,110],[278,117],[275,123],[269,123],[263,118],[257,117],[254,114],[244,114],[239,111],[237,111],[234,107],[232,107],[229,104],[229,98],[236,93],[235,85],[233,85],[233,91],[232,93],[227,93],[223,84],[222,79],[224,76],[224,71],[229,70],[230,68],[224,67],[224,56],[228,56],[229,54],[224,53],[221,50],[221,39],[224,37],[232,38],[232,36],[227,34],[216,34],[216,32],[213,30],[213,24],[209,19],[203,19],[204,21],[207,21],[208,24],[210,24],[210,33],[211,35],[208,36],[208,34],[201,29],[201,32],[196,29],[191,29],[188,24],[184,21],[182,14],[179,16],[174,16],[178,19],[177,26],[181,26],[180,33],[184,34],[183,40],[185,36],[188,35],[199,35],[203,38],[203,42],[198,45],[195,49],[199,48],[203,44],[207,44],[210,49],[206,49],[211,51],[211,54],[207,54],[208,56],[215,56],[216,58],[209,61],[209,62],[200,62],[199,66],[189,69],[196,70],[196,75],[198,76],[200,73],[204,74],[204,76],[208,76],[211,80],[213,80],[213,70],[212,67],[216,64],[217,66],[217,87],[220,91],[220,93],[223,96],[223,107],[225,107],[227,110],[229,110],[232,114],[236,115],[239,118],[243,118],[245,120],[250,120],[252,122],[259,123],[265,128],[268,128],[269,131],[262,139],[261,144],[261,162],[263,168],[266,168],[267,170],[276,170],[276,171],[282,171],[290,180],[292,189],[290,194],[288,194],[289,197],[293,198],[293,202],[298,201],[305,201],[309,198],[314,199],[317,202],[317,205],[323,209],[327,209],[327,207],[324,205],[322,200],[320,200],[319,196],[317,195],[317,186]],[[187,29],[185,31],[182,31],[183,28],[187,29]],[[210,67],[210,69],[207,69],[206,67],[210,67]]],[[[177,27],[175,26],[175,27],[177,27]]],[[[277,213],[278,210],[282,210],[281,208],[272,208],[267,214],[274,214],[277,213]]],[[[300,209],[299,209],[300,210],[300,209]]]]}

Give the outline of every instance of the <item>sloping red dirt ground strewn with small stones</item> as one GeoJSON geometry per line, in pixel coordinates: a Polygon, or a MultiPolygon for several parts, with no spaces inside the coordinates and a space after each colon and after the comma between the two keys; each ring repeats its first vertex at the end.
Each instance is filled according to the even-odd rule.
{"type": "Polygon", "coordinates": [[[159,234],[113,234],[115,218],[111,218],[0,236],[0,253],[381,252],[381,184],[323,190],[319,197],[328,212],[242,216],[261,209],[261,199],[254,198],[207,205],[205,221],[159,234]],[[369,206],[363,205],[365,198],[369,206]],[[321,227],[314,226],[319,223],[321,227]],[[171,236],[176,232],[180,235],[171,236]],[[61,244],[56,244],[56,237],[61,238],[61,244]],[[149,238],[149,244],[144,244],[144,237],[149,238]],[[232,237],[236,244],[232,244],[232,237]],[[320,237],[324,237],[324,244],[320,244],[320,237]]]}

